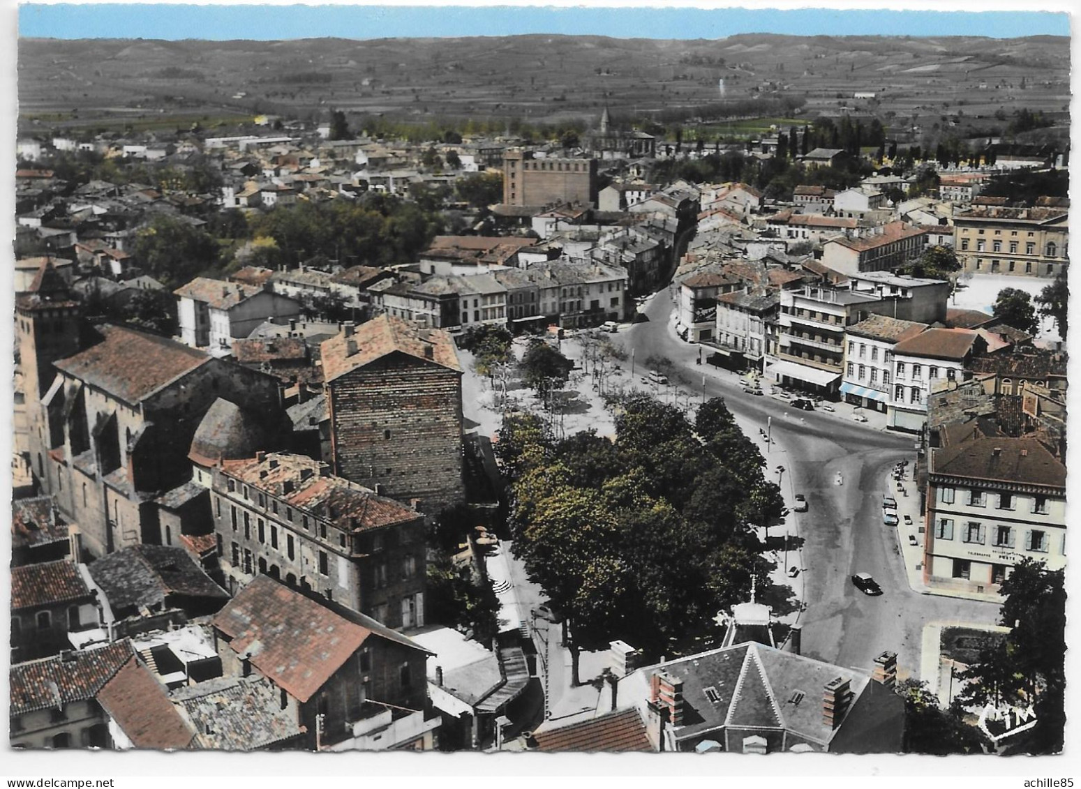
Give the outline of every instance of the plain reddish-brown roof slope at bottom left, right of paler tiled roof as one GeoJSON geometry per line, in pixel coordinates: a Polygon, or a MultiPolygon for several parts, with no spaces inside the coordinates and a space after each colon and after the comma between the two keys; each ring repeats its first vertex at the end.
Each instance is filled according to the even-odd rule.
{"type": "Polygon", "coordinates": [[[183,750],[195,738],[164,686],[134,655],[98,691],[97,701],[136,748],[183,750]]]}

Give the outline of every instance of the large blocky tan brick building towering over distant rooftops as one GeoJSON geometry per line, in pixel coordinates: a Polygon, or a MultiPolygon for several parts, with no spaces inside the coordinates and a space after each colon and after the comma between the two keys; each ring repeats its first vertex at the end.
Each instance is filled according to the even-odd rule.
{"type": "Polygon", "coordinates": [[[513,149],[503,157],[503,202],[507,205],[597,204],[597,160],[536,157],[513,149]]]}

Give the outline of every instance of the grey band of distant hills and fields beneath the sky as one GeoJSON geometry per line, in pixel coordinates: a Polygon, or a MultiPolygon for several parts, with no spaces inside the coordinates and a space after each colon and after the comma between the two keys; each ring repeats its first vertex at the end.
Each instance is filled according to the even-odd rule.
{"type": "Polygon", "coordinates": [[[932,117],[1014,106],[1062,113],[1069,54],[1068,38],[1049,36],[21,39],[18,93],[24,121],[72,111],[83,119],[145,111],[325,117],[333,107],[406,119],[557,122],[592,120],[605,104],[636,117],[713,104],[721,79],[725,101],[793,96],[810,113],[932,117]],[[856,93],[876,96],[857,101],[856,93]]]}

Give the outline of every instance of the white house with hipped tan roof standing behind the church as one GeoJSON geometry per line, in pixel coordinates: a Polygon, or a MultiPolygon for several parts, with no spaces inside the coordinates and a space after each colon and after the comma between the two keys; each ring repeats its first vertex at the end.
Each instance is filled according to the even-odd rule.
{"type": "Polygon", "coordinates": [[[192,348],[227,351],[232,340],[246,337],[266,320],[301,317],[295,298],[273,292],[269,285],[243,285],[197,277],[177,287],[177,320],[181,339],[192,348]]]}

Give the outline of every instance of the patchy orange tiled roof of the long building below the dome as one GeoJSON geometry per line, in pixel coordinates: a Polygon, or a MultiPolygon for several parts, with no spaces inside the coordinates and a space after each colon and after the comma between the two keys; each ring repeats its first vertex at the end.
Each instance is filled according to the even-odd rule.
{"type": "Polygon", "coordinates": [[[231,477],[281,498],[299,510],[334,522],[346,532],[363,532],[423,516],[391,498],[375,495],[341,477],[323,476],[323,464],[306,455],[271,452],[242,460],[225,460],[223,470],[231,477]],[[305,478],[307,474],[307,478],[305,478]],[[285,483],[292,490],[285,492],[285,483]]]}

